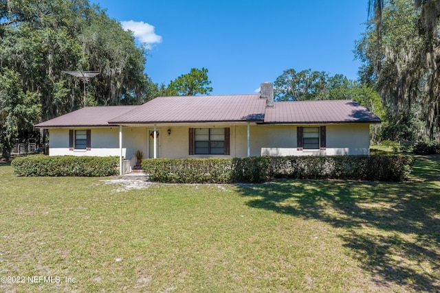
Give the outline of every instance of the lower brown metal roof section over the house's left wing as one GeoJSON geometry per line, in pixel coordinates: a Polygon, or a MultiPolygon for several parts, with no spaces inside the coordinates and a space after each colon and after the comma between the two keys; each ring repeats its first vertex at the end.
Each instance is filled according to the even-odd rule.
{"type": "Polygon", "coordinates": [[[66,115],[36,124],[36,128],[109,126],[115,116],[133,110],[138,106],[96,106],[85,107],[66,115]]]}

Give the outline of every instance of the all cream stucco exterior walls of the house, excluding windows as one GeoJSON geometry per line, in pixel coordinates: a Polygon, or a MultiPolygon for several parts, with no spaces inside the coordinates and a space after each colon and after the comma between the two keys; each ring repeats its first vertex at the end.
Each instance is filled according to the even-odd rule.
{"type": "MultiPolygon", "coordinates": [[[[216,157],[244,157],[248,155],[248,127],[245,124],[157,127],[157,157],[207,158],[212,155],[189,155],[189,128],[230,128],[230,155],[216,157]],[[168,135],[167,130],[171,133],[168,135]]],[[[304,125],[304,127],[309,127],[304,125]]],[[[336,154],[369,154],[369,124],[327,125],[326,150],[297,150],[296,130],[292,125],[250,126],[250,156],[305,156],[336,154]]],[[[142,150],[144,159],[152,157],[152,127],[122,128],[122,156],[132,159],[142,150]],[[150,141],[151,140],[151,141],[150,141]]],[[[119,128],[91,128],[91,150],[69,150],[69,129],[50,129],[51,156],[119,156],[119,128]]]]}

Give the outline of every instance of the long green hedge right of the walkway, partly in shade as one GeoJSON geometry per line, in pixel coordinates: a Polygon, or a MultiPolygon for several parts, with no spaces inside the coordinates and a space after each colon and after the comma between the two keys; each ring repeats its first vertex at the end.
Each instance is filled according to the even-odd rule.
{"type": "Polygon", "coordinates": [[[234,159],[148,159],[142,168],[162,183],[255,183],[269,178],[403,181],[412,156],[257,156],[234,159]]]}

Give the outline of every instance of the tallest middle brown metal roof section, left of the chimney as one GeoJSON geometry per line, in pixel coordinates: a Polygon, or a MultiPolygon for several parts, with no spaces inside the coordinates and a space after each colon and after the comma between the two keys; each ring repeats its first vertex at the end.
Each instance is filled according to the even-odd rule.
{"type": "Polygon", "coordinates": [[[113,124],[263,121],[266,99],[251,95],[157,97],[110,120],[113,124]]]}

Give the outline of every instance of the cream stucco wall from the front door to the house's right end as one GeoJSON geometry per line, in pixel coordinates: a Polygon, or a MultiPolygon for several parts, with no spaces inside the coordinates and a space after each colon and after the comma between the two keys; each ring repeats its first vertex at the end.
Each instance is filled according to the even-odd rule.
{"type": "MultiPolygon", "coordinates": [[[[191,126],[191,128],[214,127],[210,125],[191,126]]],[[[230,127],[230,156],[248,155],[248,127],[246,125],[222,125],[230,127]]],[[[307,127],[307,125],[305,125],[307,127]]],[[[164,158],[207,158],[212,155],[188,154],[189,126],[157,128],[161,133],[158,139],[160,156],[164,158]],[[167,131],[170,129],[171,134],[167,131]]],[[[327,125],[326,150],[297,150],[296,128],[292,125],[253,125],[250,126],[251,156],[307,156],[337,154],[369,154],[369,124],[327,125]]],[[[216,157],[228,157],[218,155],[216,157]]]]}

